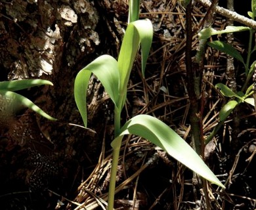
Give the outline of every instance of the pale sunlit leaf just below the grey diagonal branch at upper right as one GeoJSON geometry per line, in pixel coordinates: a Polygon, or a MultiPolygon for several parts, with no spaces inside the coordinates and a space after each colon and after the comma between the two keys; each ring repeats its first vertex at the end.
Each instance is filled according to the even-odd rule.
{"type": "Polygon", "coordinates": [[[208,39],[212,35],[217,35],[221,33],[233,33],[233,32],[240,32],[240,31],[247,31],[249,27],[245,26],[226,26],[225,30],[215,30],[213,28],[204,28],[198,33],[199,39],[208,39]]]}

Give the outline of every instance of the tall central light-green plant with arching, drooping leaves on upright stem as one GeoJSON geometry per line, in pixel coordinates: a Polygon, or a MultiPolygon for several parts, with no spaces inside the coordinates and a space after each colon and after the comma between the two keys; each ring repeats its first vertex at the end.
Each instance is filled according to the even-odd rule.
{"type": "Polygon", "coordinates": [[[87,127],[87,87],[91,74],[95,74],[104,86],[105,91],[114,103],[114,140],[113,159],[110,173],[108,194],[108,210],[114,209],[114,194],[116,188],[116,173],[121,142],[125,135],[137,135],[156,144],[173,156],[186,167],[198,173],[203,178],[224,188],[224,185],[205,165],[203,160],[175,131],[168,125],[149,115],[135,116],[121,125],[121,111],[127,97],[127,84],[133,68],[133,62],[139,47],[142,54],[142,75],[146,69],[146,60],[150,52],[153,38],[153,28],[150,20],[139,19],[139,1],[129,1],[129,21],[123,37],[117,60],[110,55],[99,56],[85,66],[75,77],[74,96],[77,108],[87,127]]]}

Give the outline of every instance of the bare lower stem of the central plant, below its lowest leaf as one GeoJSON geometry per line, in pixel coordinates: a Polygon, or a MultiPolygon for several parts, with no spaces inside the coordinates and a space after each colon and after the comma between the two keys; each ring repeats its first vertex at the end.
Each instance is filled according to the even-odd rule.
{"type": "Polygon", "coordinates": [[[121,148],[121,140],[119,144],[120,145],[113,150],[113,160],[112,160],[111,173],[110,173],[110,188],[108,190],[108,210],[114,209],[115,190],[116,190],[116,173],[117,173],[119,152],[121,148]]]}

